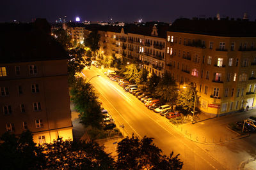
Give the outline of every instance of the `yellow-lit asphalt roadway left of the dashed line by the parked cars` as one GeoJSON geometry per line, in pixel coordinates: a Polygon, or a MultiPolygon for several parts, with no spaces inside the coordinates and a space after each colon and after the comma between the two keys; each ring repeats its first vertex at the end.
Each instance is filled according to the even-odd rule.
{"type": "MultiPolygon", "coordinates": [[[[115,119],[116,125],[124,125],[125,136],[147,136],[154,138],[154,143],[164,154],[170,152],[177,155],[184,162],[183,169],[228,169],[214,159],[196,143],[189,141],[173,129],[168,120],[157,113],[148,110],[136,97],[124,92],[115,81],[109,80],[99,69],[86,69],[84,75],[99,93],[102,105],[115,119]]],[[[120,128],[122,129],[122,128],[120,128]]]]}

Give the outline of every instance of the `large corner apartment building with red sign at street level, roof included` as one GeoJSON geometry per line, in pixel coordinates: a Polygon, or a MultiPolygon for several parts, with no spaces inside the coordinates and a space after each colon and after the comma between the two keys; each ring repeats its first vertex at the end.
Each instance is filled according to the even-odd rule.
{"type": "Polygon", "coordinates": [[[166,71],[180,87],[195,83],[201,111],[225,115],[255,106],[255,22],[180,19],[166,41],[166,71]]]}

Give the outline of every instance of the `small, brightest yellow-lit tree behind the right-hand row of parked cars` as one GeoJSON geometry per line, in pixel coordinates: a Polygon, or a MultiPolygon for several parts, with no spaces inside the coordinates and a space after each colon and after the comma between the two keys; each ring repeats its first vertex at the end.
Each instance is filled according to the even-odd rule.
{"type": "Polygon", "coordinates": [[[124,72],[125,78],[132,83],[140,82],[140,75],[138,68],[135,64],[128,64],[126,67],[126,71],[124,72]]]}

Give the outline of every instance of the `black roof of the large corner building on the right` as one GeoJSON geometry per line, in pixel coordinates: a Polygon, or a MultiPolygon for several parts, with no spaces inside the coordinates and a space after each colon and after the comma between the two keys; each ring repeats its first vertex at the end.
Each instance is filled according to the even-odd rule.
{"type": "Polygon", "coordinates": [[[189,20],[177,19],[168,31],[210,36],[255,37],[256,22],[247,20],[189,20]]]}

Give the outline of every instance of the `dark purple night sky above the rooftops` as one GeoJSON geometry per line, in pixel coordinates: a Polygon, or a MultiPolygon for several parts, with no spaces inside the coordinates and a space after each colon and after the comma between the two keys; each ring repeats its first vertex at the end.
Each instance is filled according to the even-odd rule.
{"type": "Polygon", "coordinates": [[[67,15],[90,21],[143,21],[173,22],[176,18],[221,17],[243,18],[248,13],[256,19],[256,0],[8,0],[1,1],[0,22],[31,22],[33,18],[47,18],[54,22],[67,15]]]}

